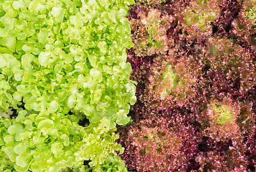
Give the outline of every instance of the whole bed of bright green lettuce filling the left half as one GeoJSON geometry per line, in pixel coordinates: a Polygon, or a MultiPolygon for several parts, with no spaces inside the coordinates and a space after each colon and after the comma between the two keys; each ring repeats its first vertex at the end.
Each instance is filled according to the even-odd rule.
{"type": "Polygon", "coordinates": [[[115,126],[130,122],[136,101],[126,63],[133,3],[0,0],[0,171],[60,171],[89,159],[99,168],[122,153],[115,126]]]}

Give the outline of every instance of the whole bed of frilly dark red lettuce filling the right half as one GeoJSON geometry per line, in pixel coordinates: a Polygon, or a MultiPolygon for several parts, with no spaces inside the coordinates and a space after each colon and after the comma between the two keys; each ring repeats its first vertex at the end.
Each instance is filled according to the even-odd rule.
{"type": "Polygon", "coordinates": [[[133,123],[119,128],[126,148],[121,157],[130,170],[255,171],[251,5],[167,0],[132,7],[135,46],[128,61],[137,103],[131,106],[133,123]]]}

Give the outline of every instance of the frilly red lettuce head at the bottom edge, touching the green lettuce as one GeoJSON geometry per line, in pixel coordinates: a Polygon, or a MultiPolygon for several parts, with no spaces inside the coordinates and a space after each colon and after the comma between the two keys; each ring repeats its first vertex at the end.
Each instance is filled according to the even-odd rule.
{"type": "Polygon", "coordinates": [[[199,138],[179,112],[144,111],[147,119],[123,128],[119,142],[126,148],[121,158],[137,171],[186,171],[199,138]]]}

